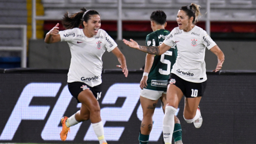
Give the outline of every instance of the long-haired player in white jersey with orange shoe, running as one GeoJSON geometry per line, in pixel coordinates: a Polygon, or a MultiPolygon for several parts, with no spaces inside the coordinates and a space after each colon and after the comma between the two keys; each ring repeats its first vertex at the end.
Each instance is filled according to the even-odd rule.
{"type": "Polygon", "coordinates": [[[104,137],[98,100],[101,97],[102,55],[107,50],[113,52],[119,63],[117,67],[127,77],[128,70],[124,55],[115,41],[100,29],[100,14],[94,10],[81,9],[72,15],[66,13],[62,19],[67,30],[59,31],[59,23],[45,36],[45,43],[68,42],[71,51],[71,62],[68,71],[68,89],[71,95],[81,102],[82,106],[71,117],[62,117],[60,138],[67,139],[69,127],[79,122],[91,120],[93,130],[100,144],[107,143],[104,137]],[[82,25],[83,29],[79,29],[82,25]]]}

